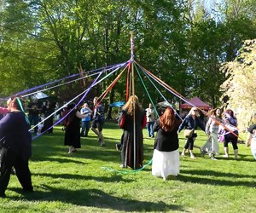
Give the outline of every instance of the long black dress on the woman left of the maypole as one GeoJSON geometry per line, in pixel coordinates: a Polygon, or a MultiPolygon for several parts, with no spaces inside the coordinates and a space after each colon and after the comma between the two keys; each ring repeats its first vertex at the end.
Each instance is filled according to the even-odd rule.
{"type": "Polygon", "coordinates": [[[73,112],[68,115],[64,145],[80,148],[80,118],[76,116],[76,112],[77,110],[73,110],[73,112]]]}

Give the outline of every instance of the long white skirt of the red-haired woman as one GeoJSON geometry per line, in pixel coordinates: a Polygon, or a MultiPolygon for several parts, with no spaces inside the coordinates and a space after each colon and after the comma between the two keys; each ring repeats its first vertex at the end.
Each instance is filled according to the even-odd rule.
{"type": "Polygon", "coordinates": [[[161,176],[164,179],[167,176],[177,176],[179,173],[179,151],[161,152],[154,149],[152,176],[161,176]]]}

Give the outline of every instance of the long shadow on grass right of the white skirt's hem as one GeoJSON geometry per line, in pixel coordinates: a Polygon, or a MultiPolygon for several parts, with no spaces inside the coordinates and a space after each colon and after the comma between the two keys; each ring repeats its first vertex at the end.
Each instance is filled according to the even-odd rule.
{"type": "Polygon", "coordinates": [[[193,182],[193,183],[200,183],[200,184],[207,184],[213,186],[230,186],[230,187],[255,187],[255,181],[238,181],[237,178],[256,178],[256,176],[247,176],[247,175],[237,175],[232,173],[224,173],[212,170],[182,170],[181,174],[178,175],[177,181],[183,182],[193,182]],[[183,175],[189,174],[189,176],[183,175]],[[201,176],[201,177],[200,177],[201,176]],[[234,178],[234,181],[229,181],[226,179],[217,180],[211,178],[210,176],[214,177],[224,177],[224,178],[234,178]]]}

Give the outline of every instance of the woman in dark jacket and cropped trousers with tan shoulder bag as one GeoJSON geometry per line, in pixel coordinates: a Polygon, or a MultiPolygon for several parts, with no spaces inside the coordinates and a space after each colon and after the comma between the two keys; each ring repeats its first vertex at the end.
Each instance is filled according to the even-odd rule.
{"type": "MultiPolygon", "coordinates": [[[[181,153],[181,156],[184,157],[186,151],[189,149],[190,158],[195,159],[195,155],[193,153],[194,143],[195,139],[197,137],[196,130],[200,127],[201,130],[205,131],[205,126],[201,123],[200,118],[198,118],[198,110],[196,107],[192,107],[189,111],[189,114],[183,119],[183,123],[180,124],[178,128],[178,133],[185,129],[185,130],[194,130],[191,137],[186,139],[185,146],[183,148],[183,152],[181,153]]],[[[200,147],[198,147],[200,148],[200,147]]]]}

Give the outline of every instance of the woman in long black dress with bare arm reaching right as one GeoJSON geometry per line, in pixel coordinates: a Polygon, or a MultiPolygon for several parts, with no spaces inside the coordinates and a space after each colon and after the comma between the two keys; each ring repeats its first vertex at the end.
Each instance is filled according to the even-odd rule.
{"type": "Polygon", "coordinates": [[[82,115],[79,112],[79,109],[74,108],[75,104],[71,103],[67,106],[67,111],[70,112],[66,118],[65,122],[65,138],[64,145],[69,147],[68,153],[76,152],[77,148],[81,147],[80,141],[80,123],[81,118],[86,118],[89,116],[88,114],[82,115]]]}

